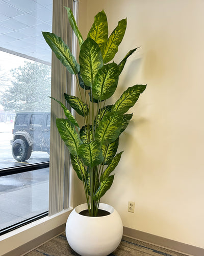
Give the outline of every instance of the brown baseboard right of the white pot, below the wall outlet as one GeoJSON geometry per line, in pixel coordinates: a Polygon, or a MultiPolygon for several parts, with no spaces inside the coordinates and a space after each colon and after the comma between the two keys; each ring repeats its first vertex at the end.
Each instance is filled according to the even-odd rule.
{"type": "Polygon", "coordinates": [[[204,249],[202,248],[155,236],[154,234],[145,233],[129,227],[123,227],[123,235],[134,239],[142,240],[147,243],[155,244],[164,248],[168,248],[177,252],[181,252],[187,255],[204,255],[204,249]]]}

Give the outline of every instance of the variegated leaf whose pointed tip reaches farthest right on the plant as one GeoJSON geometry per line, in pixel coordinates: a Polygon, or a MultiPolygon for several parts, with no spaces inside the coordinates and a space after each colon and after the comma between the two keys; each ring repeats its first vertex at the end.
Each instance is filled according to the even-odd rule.
{"type": "Polygon", "coordinates": [[[136,86],[127,88],[112,107],[112,112],[124,114],[127,112],[138,100],[140,93],[143,93],[146,85],[136,84],[136,86]]]}

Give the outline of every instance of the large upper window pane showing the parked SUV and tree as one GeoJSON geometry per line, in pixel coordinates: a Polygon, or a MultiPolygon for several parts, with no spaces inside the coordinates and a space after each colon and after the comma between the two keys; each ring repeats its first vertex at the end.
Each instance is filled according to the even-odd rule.
{"type": "Polygon", "coordinates": [[[0,1],[0,169],[49,161],[52,0],[0,1]]]}

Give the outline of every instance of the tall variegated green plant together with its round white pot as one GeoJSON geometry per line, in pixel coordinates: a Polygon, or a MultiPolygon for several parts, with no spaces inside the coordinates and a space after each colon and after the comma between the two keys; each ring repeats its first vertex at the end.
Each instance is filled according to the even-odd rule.
{"type": "Polygon", "coordinates": [[[122,155],[122,152],[117,153],[119,136],[133,116],[125,113],[136,103],[146,85],[137,84],[127,88],[114,104],[107,105],[106,100],[114,94],[127,58],[137,49],[130,50],[118,65],[112,61],[124,36],[126,19],[120,20],[118,26],[108,36],[107,16],[103,10],[96,14],[94,23],[84,40],[70,8],[65,8],[70,25],[79,41],[79,63],[61,37],[49,32],[42,34],[57,58],[76,77],[79,97],[66,93],[64,97],[71,108],[82,116],[84,122],[80,127],[66,106],[53,98],[64,109],[66,119],[57,118],[56,124],[61,138],[69,149],[72,167],[83,182],[87,200],[87,204],[78,206],[71,212],[67,220],[66,235],[70,246],[81,255],[107,255],[117,248],[121,241],[122,222],[117,211],[111,206],[101,204],[100,198],[111,187],[114,180],[113,171],[122,155]],[[80,214],[86,209],[89,217],[80,214]],[[97,217],[103,209],[108,211],[109,215],[97,217]],[[111,219],[112,216],[116,221],[111,219]],[[94,223],[93,227],[88,220],[94,223]],[[77,224],[73,224],[75,221],[77,224]],[[99,224],[100,228],[96,224],[97,221],[102,222],[99,224]],[[84,228],[85,234],[81,230],[84,222],[88,222],[84,228]],[[103,227],[104,231],[101,231],[103,227]],[[109,231],[115,230],[115,233],[109,236],[107,228],[109,231]],[[93,233],[93,229],[96,230],[97,236],[93,233]],[[92,244],[85,241],[86,238],[92,244]],[[115,240],[113,241],[115,244],[108,250],[102,251],[103,247],[107,247],[104,245],[105,240],[108,244],[115,240]],[[75,242],[83,244],[82,248],[79,249],[80,245],[75,245],[75,242]],[[100,244],[100,247],[96,244],[100,244]],[[92,248],[92,252],[89,247],[92,248]]]}

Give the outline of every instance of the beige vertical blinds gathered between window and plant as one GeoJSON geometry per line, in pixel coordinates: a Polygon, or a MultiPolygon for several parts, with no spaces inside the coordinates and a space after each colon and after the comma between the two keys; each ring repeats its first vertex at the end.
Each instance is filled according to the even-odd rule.
{"type": "MultiPolygon", "coordinates": [[[[75,1],[74,1],[75,2],[75,1]]],[[[53,0],[53,33],[62,37],[72,51],[72,29],[64,6],[77,8],[73,0],[53,0]]],[[[73,13],[77,13],[73,10],[73,13]]],[[[51,96],[65,104],[64,93],[72,92],[72,77],[52,54],[51,96]]],[[[69,207],[69,152],[56,126],[56,118],[65,118],[60,104],[51,103],[50,166],[49,166],[49,216],[69,207]]]]}

